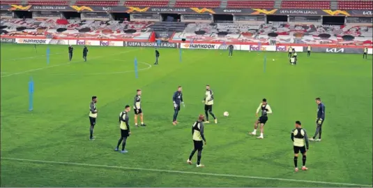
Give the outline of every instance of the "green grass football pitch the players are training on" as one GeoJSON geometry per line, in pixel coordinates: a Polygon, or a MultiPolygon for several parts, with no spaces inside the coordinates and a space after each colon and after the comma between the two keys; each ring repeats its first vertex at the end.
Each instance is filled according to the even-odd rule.
{"type": "MultiPolygon", "coordinates": [[[[372,55],[1,44],[1,187],[372,187],[372,55]],[[137,57],[139,78],[135,78],[137,57]],[[264,57],[266,71],[264,72],[264,57]],[[35,83],[29,112],[28,82],[35,83]],[[205,124],[207,145],[196,168],[186,164],[192,123],[204,114],[205,85],[218,124],[205,124]],[[185,108],[172,125],[172,95],[185,108]],[[119,113],[142,89],[146,127],[136,128],[127,154],[114,152],[119,113]],[[89,103],[99,110],[89,140],[89,103]],[[294,122],[315,131],[320,97],[326,106],[321,142],[310,143],[309,171],[294,173],[294,122]],[[266,98],[264,139],[252,131],[266,98]],[[223,117],[228,111],[229,117],[223,117]]],[[[300,158],[301,159],[301,158],[300,158]]],[[[298,160],[301,166],[301,160],[298,160]]]]}

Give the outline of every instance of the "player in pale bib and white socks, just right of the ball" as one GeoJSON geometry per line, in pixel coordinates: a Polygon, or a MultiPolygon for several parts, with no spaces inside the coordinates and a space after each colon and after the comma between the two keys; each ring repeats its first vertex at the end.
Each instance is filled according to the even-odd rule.
{"type": "Polygon", "coordinates": [[[254,131],[250,132],[251,135],[257,135],[258,124],[260,124],[260,136],[257,138],[263,139],[263,132],[264,132],[264,124],[268,121],[268,114],[272,113],[271,107],[267,103],[267,99],[263,99],[262,102],[259,104],[257,108],[256,116],[258,116],[259,110],[261,110],[261,116],[254,124],[254,131]]]}

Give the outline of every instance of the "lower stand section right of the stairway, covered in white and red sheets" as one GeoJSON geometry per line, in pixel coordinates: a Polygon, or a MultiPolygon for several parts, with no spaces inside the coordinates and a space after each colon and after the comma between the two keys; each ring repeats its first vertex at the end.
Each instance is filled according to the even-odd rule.
{"type": "Polygon", "coordinates": [[[310,24],[188,24],[183,32],[176,32],[173,40],[227,41],[307,44],[372,44],[372,26],[310,24]],[[348,36],[348,37],[347,37],[348,36]]]}

